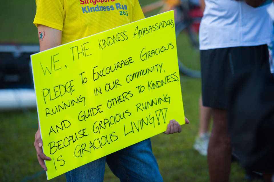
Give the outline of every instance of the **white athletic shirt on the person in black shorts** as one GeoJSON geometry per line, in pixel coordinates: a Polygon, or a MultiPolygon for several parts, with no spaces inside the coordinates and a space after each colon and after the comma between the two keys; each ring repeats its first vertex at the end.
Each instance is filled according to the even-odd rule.
{"type": "Polygon", "coordinates": [[[268,5],[253,8],[245,1],[205,0],[200,24],[200,50],[258,46],[273,40],[268,5]]]}

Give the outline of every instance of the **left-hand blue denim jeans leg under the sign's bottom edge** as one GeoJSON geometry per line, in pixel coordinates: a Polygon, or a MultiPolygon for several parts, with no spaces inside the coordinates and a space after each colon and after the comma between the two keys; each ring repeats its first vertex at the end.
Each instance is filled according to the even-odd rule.
{"type": "Polygon", "coordinates": [[[104,180],[106,157],[102,157],[66,173],[67,182],[88,182],[104,180]]]}

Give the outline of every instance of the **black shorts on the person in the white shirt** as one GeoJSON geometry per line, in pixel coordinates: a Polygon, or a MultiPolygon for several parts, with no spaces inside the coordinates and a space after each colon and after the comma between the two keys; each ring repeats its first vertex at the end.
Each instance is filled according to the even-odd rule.
{"type": "Polygon", "coordinates": [[[228,107],[228,83],[246,70],[270,72],[267,45],[201,50],[203,105],[228,107]]]}

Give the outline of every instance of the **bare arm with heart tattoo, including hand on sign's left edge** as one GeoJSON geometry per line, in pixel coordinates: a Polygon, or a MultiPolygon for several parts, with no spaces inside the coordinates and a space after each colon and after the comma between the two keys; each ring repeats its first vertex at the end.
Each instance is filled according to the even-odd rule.
{"type": "MultiPolygon", "coordinates": [[[[40,41],[40,51],[44,51],[44,50],[61,45],[62,31],[51,28],[51,27],[47,27],[45,25],[38,25],[38,37],[40,41]]],[[[47,157],[43,153],[43,150],[42,150],[43,142],[40,135],[39,123],[38,123],[38,130],[35,133],[35,140],[33,145],[36,150],[36,155],[37,155],[39,164],[45,171],[47,171],[47,167],[45,165],[44,160],[50,161],[51,158],[47,157]]]]}

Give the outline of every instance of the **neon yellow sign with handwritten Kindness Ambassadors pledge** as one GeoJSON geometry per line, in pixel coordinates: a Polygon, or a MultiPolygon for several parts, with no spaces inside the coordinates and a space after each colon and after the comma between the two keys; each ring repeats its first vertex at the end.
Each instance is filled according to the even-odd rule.
{"type": "Polygon", "coordinates": [[[48,179],[184,124],[173,11],[31,60],[48,179]]]}

